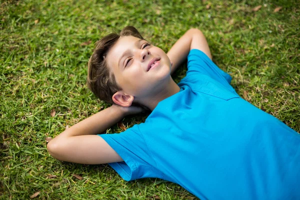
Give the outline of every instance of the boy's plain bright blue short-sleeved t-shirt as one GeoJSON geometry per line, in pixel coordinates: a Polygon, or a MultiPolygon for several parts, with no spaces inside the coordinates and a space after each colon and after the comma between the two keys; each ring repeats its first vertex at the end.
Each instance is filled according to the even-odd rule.
{"type": "Polygon", "coordinates": [[[190,50],[180,91],[144,123],[100,134],[122,178],[158,177],[201,199],[300,199],[300,135],[238,96],[231,77],[190,50]]]}

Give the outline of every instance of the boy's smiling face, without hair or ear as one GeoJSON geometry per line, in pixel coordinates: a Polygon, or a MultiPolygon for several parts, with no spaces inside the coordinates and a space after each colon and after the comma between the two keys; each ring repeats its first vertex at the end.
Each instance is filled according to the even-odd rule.
{"type": "Polygon", "coordinates": [[[120,37],[109,49],[107,63],[122,91],[136,97],[151,97],[171,70],[162,49],[134,36],[120,37]]]}

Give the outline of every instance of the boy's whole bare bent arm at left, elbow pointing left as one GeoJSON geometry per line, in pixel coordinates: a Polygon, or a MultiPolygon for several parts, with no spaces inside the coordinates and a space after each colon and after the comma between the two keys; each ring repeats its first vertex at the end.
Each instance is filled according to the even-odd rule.
{"type": "Polygon", "coordinates": [[[95,135],[121,120],[126,114],[138,113],[141,108],[112,105],[76,123],[49,141],[47,149],[56,159],[101,164],[123,161],[105,142],[95,135]]]}

